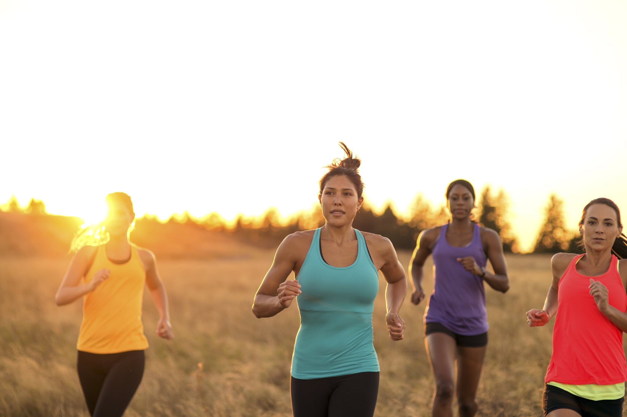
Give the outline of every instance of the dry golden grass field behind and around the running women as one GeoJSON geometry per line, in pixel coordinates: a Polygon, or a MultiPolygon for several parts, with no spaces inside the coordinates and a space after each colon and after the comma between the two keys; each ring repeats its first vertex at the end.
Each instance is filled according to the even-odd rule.
{"type": "MultiPolygon", "coordinates": [[[[298,329],[293,308],[269,319],[250,311],[273,250],[242,247],[207,260],[157,259],[171,302],[175,339],[154,335],[149,296],[144,379],[127,417],[290,416],[290,358],[298,329]]],[[[400,252],[407,266],[409,252],[400,252]]],[[[80,301],[57,307],[54,294],[69,257],[0,257],[0,416],[88,416],[75,371],[80,301]]],[[[511,289],[487,290],[490,332],[478,392],[480,416],[540,416],[551,328],[530,329],[525,311],[541,308],[549,257],[509,255],[511,289]]],[[[384,280],[374,310],[381,363],[376,416],[428,416],[433,380],[424,352],[424,304],[403,305],[401,342],[387,337],[384,280]]],[[[425,289],[431,291],[431,264],[425,289]]],[[[627,415],[627,414],[625,414],[627,415]]]]}

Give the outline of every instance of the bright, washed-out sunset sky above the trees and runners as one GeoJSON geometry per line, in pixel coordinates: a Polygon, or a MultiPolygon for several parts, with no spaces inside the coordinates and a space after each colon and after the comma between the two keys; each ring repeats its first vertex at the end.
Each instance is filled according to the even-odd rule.
{"type": "Polygon", "coordinates": [[[341,140],[377,209],[490,184],[529,250],[552,192],[572,229],[592,198],[627,210],[625,21],[624,1],[0,1],[0,203],[290,215],[341,140]]]}

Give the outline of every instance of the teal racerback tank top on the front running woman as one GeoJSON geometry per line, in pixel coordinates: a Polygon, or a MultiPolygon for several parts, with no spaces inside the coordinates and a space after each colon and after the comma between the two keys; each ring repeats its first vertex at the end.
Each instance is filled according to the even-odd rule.
{"type": "Polygon", "coordinates": [[[372,344],[372,310],[379,291],[379,274],[357,235],[357,259],[347,267],[333,267],[320,254],[320,229],[305,257],[297,297],[300,329],[292,355],[292,376],[329,378],[359,372],[378,372],[372,344]]]}

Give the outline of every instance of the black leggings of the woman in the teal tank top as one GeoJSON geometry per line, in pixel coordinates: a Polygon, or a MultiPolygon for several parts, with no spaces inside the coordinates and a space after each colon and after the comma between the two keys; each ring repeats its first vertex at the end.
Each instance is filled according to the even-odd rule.
{"type": "Polygon", "coordinates": [[[293,417],[372,417],[378,393],[378,372],[290,381],[293,417]]]}

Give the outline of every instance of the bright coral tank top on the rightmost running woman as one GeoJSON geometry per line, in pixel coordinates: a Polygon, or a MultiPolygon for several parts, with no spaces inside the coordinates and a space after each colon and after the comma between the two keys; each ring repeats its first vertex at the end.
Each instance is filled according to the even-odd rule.
{"type": "Polygon", "coordinates": [[[609,269],[598,277],[577,272],[577,255],[559,280],[553,353],[545,382],[617,384],[627,381],[623,331],[599,311],[590,295],[590,279],[608,287],[609,304],[627,311],[627,295],[612,255],[609,269]]]}

